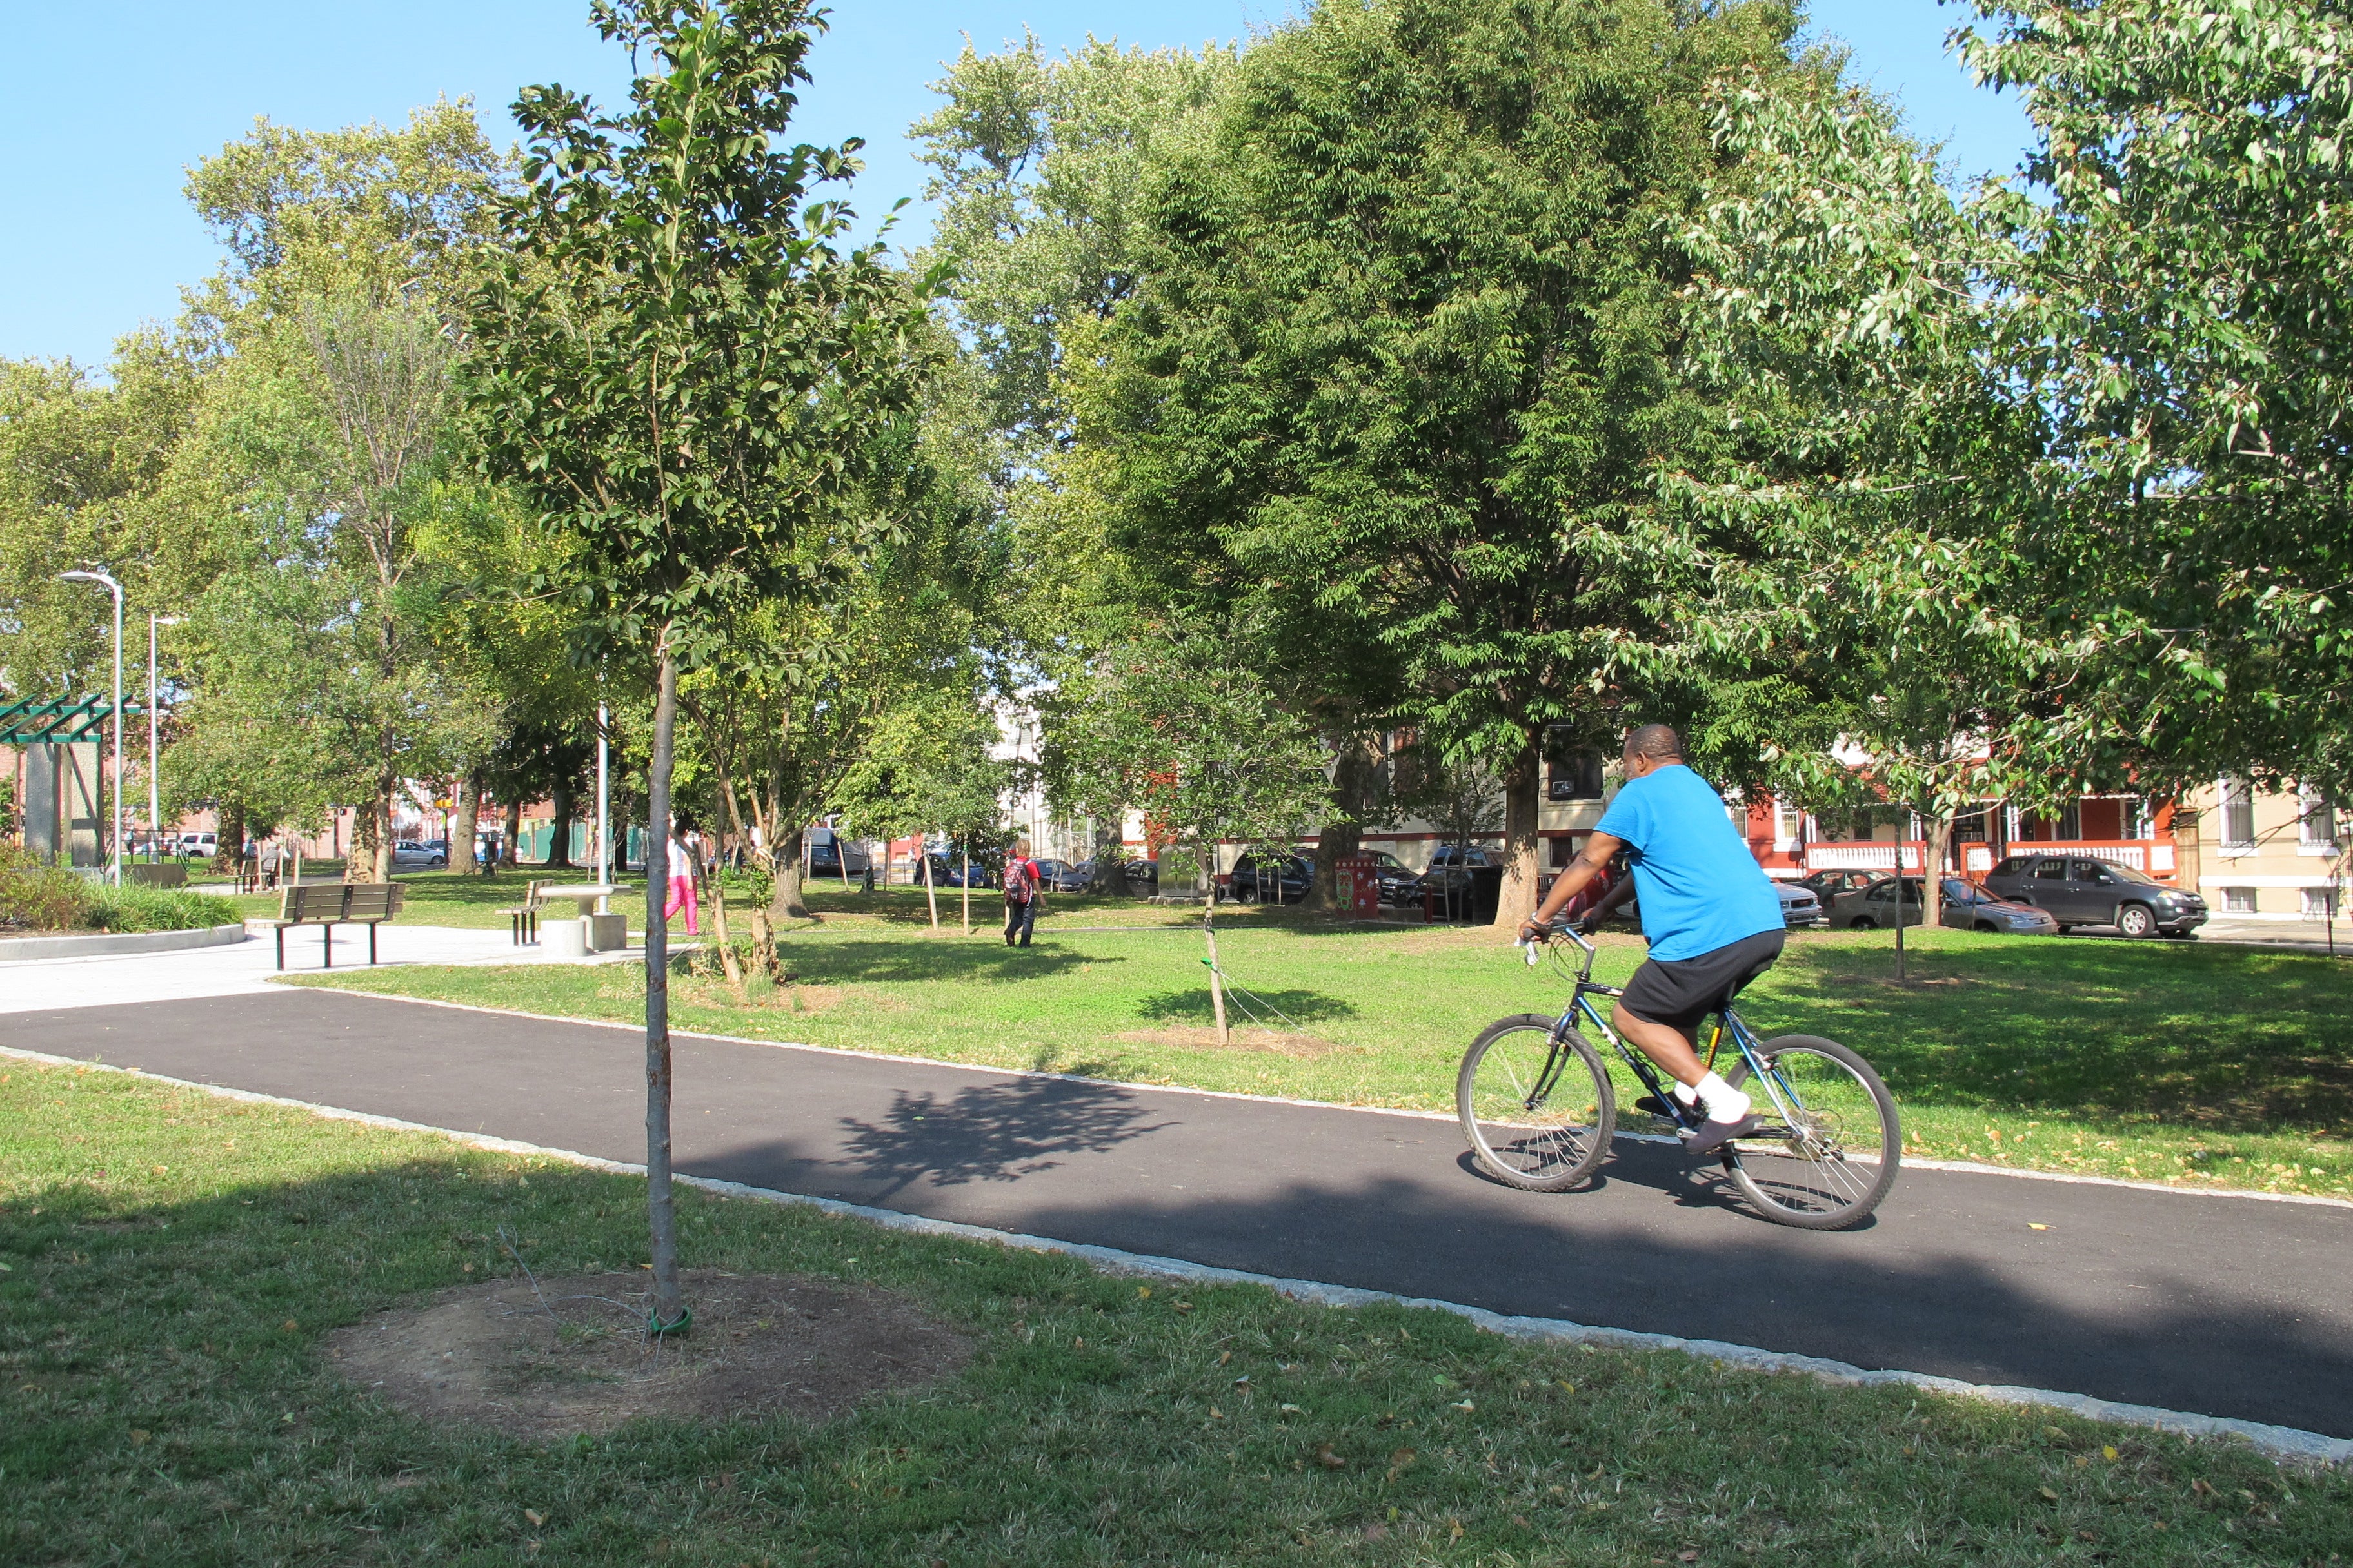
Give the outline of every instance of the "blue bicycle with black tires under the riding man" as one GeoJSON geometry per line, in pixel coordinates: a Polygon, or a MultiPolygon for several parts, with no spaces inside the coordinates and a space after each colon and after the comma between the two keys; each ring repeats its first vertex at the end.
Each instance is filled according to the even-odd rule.
{"type": "MultiPolygon", "coordinates": [[[[1586,1180],[1617,1133],[1617,1088],[1584,1025],[1617,1048],[1626,1067],[1649,1091],[1638,1100],[1661,1133],[1687,1140],[1701,1117],[1687,1110],[1647,1056],[1626,1046],[1593,1006],[1593,997],[1617,997],[1617,985],[1593,980],[1595,947],[1572,929],[1560,929],[1584,950],[1569,969],[1569,1006],[1560,1018],[1515,1013],[1487,1025],[1464,1056],[1454,1079],[1454,1105],[1478,1164],[1513,1187],[1565,1192],[1586,1180]]],[[[1548,943],[1522,943],[1534,966],[1548,943]]],[[[1897,1180],[1904,1133],[1887,1084],[1859,1053],[1817,1034],[1758,1039],[1741,1016],[1725,1006],[1715,1016],[1706,1060],[1725,1041],[1739,1060],[1725,1072],[1734,1088],[1751,1086],[1765,1126],[1715,1150],[1725,1175],[1777,1225],[1845,1229],[1861,1225],[1897,1180]]]]}

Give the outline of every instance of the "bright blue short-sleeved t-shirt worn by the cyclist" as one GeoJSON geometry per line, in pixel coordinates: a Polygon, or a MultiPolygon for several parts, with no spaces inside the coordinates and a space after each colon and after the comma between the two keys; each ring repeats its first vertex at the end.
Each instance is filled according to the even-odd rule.
{"type": "Polygon", "coordinates": [[[1598,832],[1633,851],[1626,860],[1654,959],[1697,959],[1788,924],[1722,797],[1680,762],[1628,780],[1598,832]]]}

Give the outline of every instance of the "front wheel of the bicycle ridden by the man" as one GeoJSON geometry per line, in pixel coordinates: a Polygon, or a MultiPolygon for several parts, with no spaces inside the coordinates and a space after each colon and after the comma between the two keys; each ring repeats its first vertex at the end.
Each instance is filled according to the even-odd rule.
{"type": "Polygon", "coordinates": [[[1454,1079],[1454,1110],[1478,1164],[1529,1192],[1574,1187],[1609,1152],[1617,1095],[1577,1030],[1553,1041],[1558,1020],[1499,1018],[1471,1041],[1454,1079]]]}

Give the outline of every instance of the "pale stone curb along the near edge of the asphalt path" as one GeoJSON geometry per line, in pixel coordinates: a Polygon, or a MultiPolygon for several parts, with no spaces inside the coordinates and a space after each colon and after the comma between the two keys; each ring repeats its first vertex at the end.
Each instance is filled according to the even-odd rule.
{"type": "MultiPolygon", "coordinates": [[[[492,1138],[487,1133],[461,1133],[447,1126],[426,1126],[421,1121],[374,1117],[367,1112],[344,1110],[339,1105],[315,1105],[311,1100],[287,1100],[282,1095],[254,1093],[249,1088],[195,1084],[191,1079],[174,1079],[160,1072],[141,1072],[139,1067],[85,1063],[71,1056],[21,1051],[16,1046],[0,1046],[0,1056],[12,1056],[16,1060],[28,1060],[28,1063],[45,1063],[52,1067],[78,1067],[85,1072],[120,1072],[125,1077],[148,1079],[151,1084],[195,1088],[200,1093],[219,1095],[224,1100],[304,1110],[315,1117],[327,1117],[332,1121],[358,1121],[362,1126],[381,1126],[400,1133],[433,1133],[438,1138],[447,1138],[449,1143],[461,1143],[496,1154],[536,1154],[541,1159],[560,1159],[569,1166],[581,1166],[586,1171],[605,1171],[612,1175],[645,1175],[645,1166],[619,1159],[602,1159],[598,1154],[581,1154],[576,1150],[551,1150],[546,1145],[518,1143],[513,1138],[492,1138]]],[[[821,1199],[800,1192],[779,1192],[774,1187],[751,1187],[746,1182],[729,1182],[711,1175],[675,1175],[673,1180],[722,1197],[758,1199],[762,1204],[795,1204],[800,1208],[819,1208],[824,1213],[838,1213],[866,1220],[871,1225],[882,1225],[887,1229],[904,1229],[925,1237],[953,1237],[960,1241],[1012,1246],[1033,1253],[1064,1253],[1068,1258],[1078,1258],[1101,1269],[1113,1269],[1122,1274],[1151,1274],[1158,1279],[1184,1279],[1205,1286],[1264,1286],[1268,1291],[1275,1291],[1278,1295],[1287,1295],[1301,1302],[1313,1302],[1320,1307],[1372,1307],[1372,1305],[1421,1307],[1428,1312],[1452,1312],[1489,1333],[1501,1333],[1515,1340],[1546,1340],[1555,1345],[1602,1345],[1609,1349],[1675,1349],[1687,1356],[1704,1356],[1708,1361],[1722,1361],[1727,1366],[1737,1366],[1753,1373],[1795,1373],[1840,1385],[1901,1382],[1918,1389],[1927,1389],[1932,1394],[1951,1394],[1955,1399],[1991,1399],[1995,1403],[2045,1406],[2054,1410],[2068,1410],[2071,1415],[2082,1415],[2085,1420],[2113,1422],[2122,1427],[2148,1427],[2155,1432],[2174,1432],[2188,1439],[2200,1439],[2200,1436],[2238,1439],[2252,1446],[2257,1453],[2287,1465],[2337,1467],[2353,1462],[2353,1439],[2325,1436],[2320,1432],[2304,1432],[2299,1427],[2273,1427],[2271,1422],[2238,1420],[2233,1415],[2195,1415],[2188,1410],[2160,1410],[2155,1406],[2132,1406],[2132,1403],[2115,1403],[2108,1399],[2092,1399],[2089,1394],[2061,1394],[2054,1389],[2021,1389],[2007,1385],[1962,1382],[1958,1378],[1937,1378],[1934,1373],[1871,1371],[1861,1366],[1849,1366],[1847,1361],[1828,1361],[1824,1356],[1798,1356],[1777,1349],[1758,1349],[1753,1345],[1732,1345],[1727,1340],[1685,1340],[1671,1333],[1598,1328],[1591,1324],[1572,1324],[1569,1319],[1551,1319],[1551,1316],[1506,1316],[1501,1312],[1487,1312],[1485,1307],[1466,1307],[1461,1302],[1431,1300],[1417,1295],[1393,1295],[1388,1291],[1358,1291],[1355,1286],[1332,1286],[1315,1279],[1278,1279],[1273,1274],[1249,1274],[1245,1269],[1219,1269],[1205,1262],[1186,1262],[1184,1258],[1155,1258],[1151,1253],[1127,1253],[1115,1246],[1056,1241],[1052,1237],[1026,1237],[1021,1232],[988,1229],[986,1225],[960,1225],[955,1220],[929,1220],[925,1215],[899,1213],[896,1208],[873,1208],[868,1204],[845,1204],[842,1199],[821,1199]]]]}

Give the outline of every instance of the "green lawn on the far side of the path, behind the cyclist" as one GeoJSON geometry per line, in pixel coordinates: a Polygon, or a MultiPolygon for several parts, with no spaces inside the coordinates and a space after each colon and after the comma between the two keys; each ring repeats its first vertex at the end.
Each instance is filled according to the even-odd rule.
{"type": "MultiPolygon", "coordinates": [[[[904,900],[901,900],[904,903],[904,900]]],[[[1059,907],[1038,945],[932,936],[899,907],[784,940],[802,985],[736,1006],[673,987],[682,1030],[1188,1084],[1341,1105],[1452,1110],[1489,1020],[1558,1011],[1565,985],[1487,931],[1221,919],[1226,971],[1299,1025],[1287,1048],[1219,1048],[1198,917],[1059,907]],[[1139,922],[1115,931],[1080,926],[1139,922]],[[1151,922],[1151,924],[1141,924],[1151,922]]],[[[1798,933],[1744,999],[1772,1032],[1845,1039],[1880,1067],[1918,1157],[2174,1185],[2353,1197],[2353,966],[2266,947],[1911,933],[1894,985],[1880,933],[1798,933]]],[[[1635,938],[1605,938],[1624,980],[1635,938]]],[[[388,969],[304,983],[574,1018],[642,1016],[626,969],[388,969]]],[[[1619,1070],[1619,1103],[1638,1086],[1619,1070]]]]}

